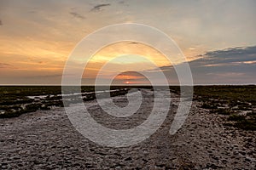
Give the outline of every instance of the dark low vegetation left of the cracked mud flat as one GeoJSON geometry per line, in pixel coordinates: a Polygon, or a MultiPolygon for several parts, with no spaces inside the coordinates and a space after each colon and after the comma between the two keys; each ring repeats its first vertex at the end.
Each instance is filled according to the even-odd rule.
{"type": "MultiPolygon", "coordinates": [[[[69,87],[71,92],[73,87],[69,87]]],[[[110,88],[119,89],[113,91],[110,95],[124,95],[127,94],[129,87],[113,86],[110,88]]],[[[94,92],[93,86],[81,87],[81,93],[94,92]]],[[[100,87],[99,90],[106,90],[106,87],[100,87]]],[[[68,94],[68,92],[66,92],[68,94]]],[[[20,116],[24,113],[33,111],[50,110],[52,107],[63,107],[61,87],[60,86],[6,86],[0,87],[0,118],[10,118],[20,116]],[[45,95],[43,99],[30,99],[28,96],[45,95]]],[[[73,98],[73,97],[71,97],[73,98]]],[[[96,99],[96,94],[83,94],[83,100],[89,101],[96,99]]],[[[77,103],[80,100],[72,99],[70,103],[77,103]]]]}

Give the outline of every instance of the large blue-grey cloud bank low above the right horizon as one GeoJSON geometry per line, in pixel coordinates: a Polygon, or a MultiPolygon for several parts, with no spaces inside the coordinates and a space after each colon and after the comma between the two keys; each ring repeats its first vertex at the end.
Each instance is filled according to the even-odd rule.
{"type": "MultiPolygon", "coordinates": [[[[256,46],[227,48],[201,54],[189,62],[195,84],[256,83],[256,46]]],[[[178,66],[178,65],[177,65],[178,66]]],[[[160,67],[166,77],[177,83],[175,67],[160,67]]],[[[148,71],[154,74],[155,71],[148,71]]]]}

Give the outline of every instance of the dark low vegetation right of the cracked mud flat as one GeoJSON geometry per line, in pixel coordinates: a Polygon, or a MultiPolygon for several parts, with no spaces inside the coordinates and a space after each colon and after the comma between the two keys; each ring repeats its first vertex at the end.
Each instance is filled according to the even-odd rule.
{"type": "MultiPolygon", "coordinates": [[[[170,88],[180,94],[180,87],[170,88]]],[[[256,130],[256,86],[195,86],[194,100],[212,114],[224,115],[224,125],[256,130]]]]}

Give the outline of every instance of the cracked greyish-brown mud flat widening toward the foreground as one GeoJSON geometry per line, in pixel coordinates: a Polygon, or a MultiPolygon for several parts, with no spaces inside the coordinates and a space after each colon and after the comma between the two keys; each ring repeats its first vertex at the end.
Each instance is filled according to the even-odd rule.
{"type": "MultiPolygon", "coordinates": [[[[143,90],[143,105],[131,117],[114,118],[96,101],[86,102],[91,116],[106,127],[131,128],[147,119],[154,97],[143,90]]],[[[256,132],[223,126],[223,116],[194,102],[183,127],[169,134],[178,99],[173,95],[166,121],[150,138],[125,148],[85,139],[65,111],[37,111],[0,119],[1,169],[255,169],[256,132]]],[[[126,105],[124,96],[114,97],[126,105]]]]}

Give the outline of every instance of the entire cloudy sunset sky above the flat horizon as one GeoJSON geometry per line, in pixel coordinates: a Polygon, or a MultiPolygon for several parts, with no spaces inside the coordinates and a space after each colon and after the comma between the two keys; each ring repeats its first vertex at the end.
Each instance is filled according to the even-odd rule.
{"type": "MultiPolygon", "coordinates": [[[[255,84],[255,8],[254,0],[0,0],[0,85],[61,84],[76,45],[121,23],[153,26],[171,37],[195,84],[255,84]]],[[[102,78],[119,73],[120,84],[148,83],[141,73],[156,77],[158,68],[178,83],[166,56],[138,42],[102,47],[84,68],[82,82],[93,84],[106,63],[102,78]]]]}

